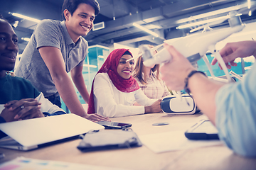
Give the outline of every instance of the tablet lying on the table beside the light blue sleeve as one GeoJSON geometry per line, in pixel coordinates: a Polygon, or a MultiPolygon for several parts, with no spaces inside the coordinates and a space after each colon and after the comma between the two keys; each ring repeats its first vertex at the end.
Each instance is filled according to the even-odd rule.
{"type": "Polygon", "coordinates": [[[185,132],[189,140],[219,140],[218,130],[210,120],[201,120],[185,132]]]}

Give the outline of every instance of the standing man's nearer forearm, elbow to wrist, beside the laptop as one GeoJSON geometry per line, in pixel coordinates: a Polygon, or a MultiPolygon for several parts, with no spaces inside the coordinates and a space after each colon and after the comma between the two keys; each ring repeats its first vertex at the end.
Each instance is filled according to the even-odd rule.
{"type": "Polygon", "coordinates": [[[58,76],[53,78],[53,82],[71,113],[84,117],[86,112],[82,108],[78,96],[75,94],[74,86],[71,79],[68,77],[68,74],[63,75],[62,77],[58,76]]]}

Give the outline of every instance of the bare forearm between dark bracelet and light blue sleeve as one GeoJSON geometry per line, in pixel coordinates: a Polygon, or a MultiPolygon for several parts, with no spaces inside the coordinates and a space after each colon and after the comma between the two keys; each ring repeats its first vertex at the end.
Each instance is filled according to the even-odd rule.
{"type": "Polygon", "coordinates": [[[188,88],[193,94],[196,105],[215,125],[215,95],[223,83],[207,79],[203,74],[193,74],[188,79],[188,88]]]}

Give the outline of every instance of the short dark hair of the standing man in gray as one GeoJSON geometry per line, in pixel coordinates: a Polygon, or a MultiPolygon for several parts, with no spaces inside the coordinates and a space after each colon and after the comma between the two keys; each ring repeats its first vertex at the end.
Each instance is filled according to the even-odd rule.
{"type": "Polygon", "coordinates": [[[100,5],[97,2],[97,0],[64,0],[63,7],[62,7],[63,19],[65,20],[65,16],[64,16],[64,13],[63,13],[63,11],[65,9],[68,9],[68,11],[70,11],[70,13],[71,13],[71,16],[73,16],[73,13],[75,12],[75,10],[82,3],[83,4],[88,4],[88,5],[92,6],[93,8],[95,8],[95,16],[97,16],[97,14],[100,13],[100,5]]]}

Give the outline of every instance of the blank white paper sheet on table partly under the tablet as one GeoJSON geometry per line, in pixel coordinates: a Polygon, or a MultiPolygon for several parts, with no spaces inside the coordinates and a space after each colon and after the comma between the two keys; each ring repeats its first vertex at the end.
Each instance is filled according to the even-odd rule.
{"type": "Polygon", "coordinates": [[[156,153],[223,144],[220,140],[188,140],[183,130],[140,135],[139,139],[156,153]]]}

